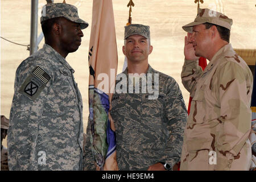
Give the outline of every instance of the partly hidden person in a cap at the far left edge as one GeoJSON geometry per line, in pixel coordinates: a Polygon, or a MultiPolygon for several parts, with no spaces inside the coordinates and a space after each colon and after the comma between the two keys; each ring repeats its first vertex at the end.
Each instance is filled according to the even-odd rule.
{"type": "Polygon", "coordinates": [[[3,139],[6,138],[7,130],[9,128],[9,119],[4,115],[1,115],[1,171],[8,171],[8,151],[5,146],[2,145],[3,139]]]}

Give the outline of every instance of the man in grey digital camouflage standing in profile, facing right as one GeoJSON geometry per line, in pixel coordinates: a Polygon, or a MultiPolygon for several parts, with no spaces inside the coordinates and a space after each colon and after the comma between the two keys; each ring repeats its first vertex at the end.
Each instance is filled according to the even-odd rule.
{"type": "Polygon", "coordinates": [[[82,98],[65,57],[79,48],[88,23],[65,3],[48,3],[40,20],[45,44],[16,70],[9,168],[82,170],[82,98]]]}

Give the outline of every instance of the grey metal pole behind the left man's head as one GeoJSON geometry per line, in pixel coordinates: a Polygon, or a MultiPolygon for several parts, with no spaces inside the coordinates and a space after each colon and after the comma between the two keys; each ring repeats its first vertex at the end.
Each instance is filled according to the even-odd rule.
{"type": "Polygon", "coordinates": [[[30,55],[38,49],[38,0],[31,0],[30,55]]]}

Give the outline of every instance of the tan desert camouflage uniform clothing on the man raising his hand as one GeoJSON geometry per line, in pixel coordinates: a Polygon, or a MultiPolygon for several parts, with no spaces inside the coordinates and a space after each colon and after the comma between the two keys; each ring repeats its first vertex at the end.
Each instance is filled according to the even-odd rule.
{"type": "Polygon", "coordinates": [[[193,99],[180,170],[249,170],[253,75],[245,61],[227,44],[204,71],[198,61],[185,60],[181,78],[193,99]]]}

